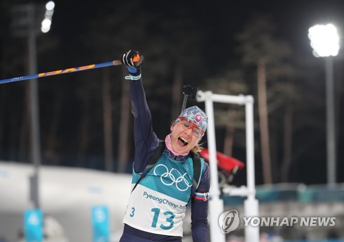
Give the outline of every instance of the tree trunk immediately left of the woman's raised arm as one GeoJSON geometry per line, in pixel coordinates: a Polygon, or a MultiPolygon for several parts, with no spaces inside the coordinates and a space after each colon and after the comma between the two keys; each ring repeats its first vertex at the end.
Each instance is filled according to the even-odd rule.
{"type": "MultiPolygon", "coordinates": [[[[126,76],[127,70],[122,72],[126,76]]],[[[118,146],[118,172],[124,173],[127,169],[127,162],[129,159],[129,121],[130,121],[130,94],[129,81],[122,78],[122,98],[120,100],[120,137],[118,146]]]]}

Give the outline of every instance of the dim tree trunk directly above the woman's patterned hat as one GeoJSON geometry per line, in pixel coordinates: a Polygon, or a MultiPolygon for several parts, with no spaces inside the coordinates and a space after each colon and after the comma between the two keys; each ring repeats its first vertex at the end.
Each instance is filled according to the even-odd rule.
{"type": "Polygon", "coordinates": [[[171,107],[171,120],[177,118],[182,110],[180,101],[182,100],[182,66],[177,64],[174,69],[174,79],[172,86],[172,107],[171,107]]]}

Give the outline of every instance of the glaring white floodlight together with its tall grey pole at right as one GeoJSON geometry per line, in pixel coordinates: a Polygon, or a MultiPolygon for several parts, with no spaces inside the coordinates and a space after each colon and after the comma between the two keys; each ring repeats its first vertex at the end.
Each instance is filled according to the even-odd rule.
{"type": "Polygon", "coordinates": [[[326,142],[327,142],[327,184],[336,183],[336,124],[334,120],[333,56],[339,52],[339,36],[336,27],[314,25],[308,30],[313,55],[325,57],[326,72],[326,142]]]}

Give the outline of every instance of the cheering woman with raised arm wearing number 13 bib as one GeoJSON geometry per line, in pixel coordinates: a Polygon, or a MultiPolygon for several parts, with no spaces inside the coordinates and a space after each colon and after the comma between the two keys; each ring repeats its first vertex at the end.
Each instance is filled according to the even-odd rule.
{"type": "MultiPolygon", "coordinates": [[[[208,241],[208,164],[200,159],[200,181],[193,179],[193,152],[206,131],[206,114],[198,107],[185,109],[171,125],[162,153],[160,140],[152,128],[151,113],[142,87],[143,56],[135,50],[121,56],[129,70],[131,112],[134,116],[135,157],[131,196],[125,212],[125,228],[120,242],[182,241],[186,205],[191,202],[193,241],[208,241]],[[154,154],[158,160],[147,166],[154,154]],[[147,173],[147,175],[146,175],[147,173]],[[141,177],[141,179],[140,179],[141,177]],[[143,177],[143,179],[142,179],[143,177]]],[[[195,172],[197,173],[197,172],[195,172]]]]}

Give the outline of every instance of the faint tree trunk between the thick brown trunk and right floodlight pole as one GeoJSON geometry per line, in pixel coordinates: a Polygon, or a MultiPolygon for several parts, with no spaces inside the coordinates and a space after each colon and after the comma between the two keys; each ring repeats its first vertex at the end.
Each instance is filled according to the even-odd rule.
{"type": "Polygon", "coordinates": [[[283,162],[281,166],[281,181],[289,181],[290,165],[292,164],[292,101],[286,102],[286,114],[284,115],[284,144],[283,162]]]}

